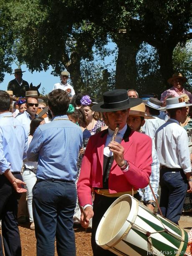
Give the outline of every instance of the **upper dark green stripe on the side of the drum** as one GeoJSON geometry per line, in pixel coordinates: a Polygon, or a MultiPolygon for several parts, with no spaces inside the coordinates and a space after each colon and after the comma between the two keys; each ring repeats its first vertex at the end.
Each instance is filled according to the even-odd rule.
{"type": "MultiPolygon", "coordinates": [[[[150,227],[152,227],[155,231],[163,231],[164,228],[154,224],[151,221],[148,221],[147,219],[141,217],[138,215],[139,218],[141,218],[145,223],[147,223],[150,227]]],[[[164,238],[166,238],[170,243],[174,244],[175,247],[179,248],[181,241],[178,238],[175,238],[174,236],[172,236],[171,234],[164,232],[159,233],[159,235],[163,236],[164,238]]]]}

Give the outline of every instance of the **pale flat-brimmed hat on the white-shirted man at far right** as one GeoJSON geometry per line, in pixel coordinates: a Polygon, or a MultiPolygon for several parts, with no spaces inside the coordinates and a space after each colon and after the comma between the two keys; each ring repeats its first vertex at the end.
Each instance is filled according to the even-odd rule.
{"type": "Polygon", "coordinates": [[[161,108],[159,110],[178,109],[178,108],[183,108],[185,106],[192,106],[192,103],[187,104],[185,102],[184,96],[168,98],[168,99],[166,99],[166,104],[167,104],[167,106],[164,106],[163,108],[161,108]]]}

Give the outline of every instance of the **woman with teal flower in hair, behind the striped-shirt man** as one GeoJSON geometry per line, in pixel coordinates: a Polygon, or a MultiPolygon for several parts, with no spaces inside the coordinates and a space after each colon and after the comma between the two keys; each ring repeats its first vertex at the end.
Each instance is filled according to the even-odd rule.
{"type": "MultiPolygon", "coordinates": [[[[75,109],[72,104],[69,104],[67,115],[68,115],[69,120],[71,122],[77,124],[78,126],[80,126],[81,130],[83,132],[83,147],[81,148],[81,150],[79,152],[79,157],[78,157],[78,161],[77,161],[77,168],[78,168],[77,178],[76,178],[76,183],[77,183],[78,177],[79,177],[80,171],[81,171],[81,162],[83,159],[83,155],[84,155],[88,140],[91,137],[91,133],[86,129],[86,116],[85,116],[83,109],[81,109],[81,108],[75,109]]],[[[73,215],[73,221],[75,224],[80,223],[80,216],[81,216],[81,210],[80,210],[80,206],[79,206],[78,198],[77,198],[75,213],[73,215]]]]}

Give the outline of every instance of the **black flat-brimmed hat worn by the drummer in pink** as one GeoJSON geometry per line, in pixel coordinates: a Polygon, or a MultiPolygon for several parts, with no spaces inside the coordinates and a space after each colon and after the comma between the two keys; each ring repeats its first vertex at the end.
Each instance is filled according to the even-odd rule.
{"type": "Polygon", "coordinates": [[[129,98],[127,91],[124,89],[106,91],[104,92],[103,97],[104,101],[92,106],[93,111],[113,112],[124,110],[137,106],[142,102],[142,100],[138,98],[129,98]]]}

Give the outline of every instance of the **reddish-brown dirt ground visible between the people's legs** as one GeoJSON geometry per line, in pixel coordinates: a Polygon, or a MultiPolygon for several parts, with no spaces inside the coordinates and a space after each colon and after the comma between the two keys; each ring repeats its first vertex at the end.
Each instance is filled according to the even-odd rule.
{"type": "MultiPolygon", "coordinates": [[[[184,215],[179,221],[179,225],[187,232],[192,228],[192,215],[184,215]]],[[[36,255],[36,239],[35,231],[30,230],[28,225],[19,226],[22,255],[23,256],[35,256],[36,255]]],[[[81,226],[74,226],[75,238],[76,238],[76,255],[77,256],[92,256],[91,250],[91,229],[85,231],[81,226]]],[[[57,255],[57,253],[55,253],[57,255]]]]}

